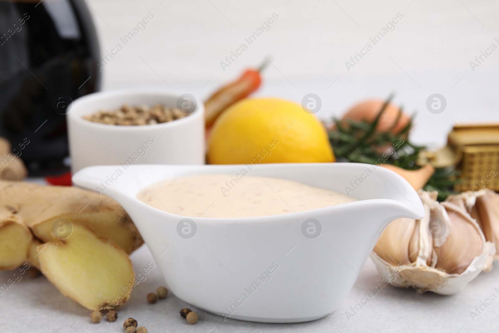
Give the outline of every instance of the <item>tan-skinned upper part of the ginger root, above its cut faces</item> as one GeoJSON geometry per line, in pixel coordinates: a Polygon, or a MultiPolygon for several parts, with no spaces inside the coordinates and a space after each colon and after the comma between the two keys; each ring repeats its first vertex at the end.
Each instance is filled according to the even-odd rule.
{"type": "MultiPolygon", "coordinates": [[[[76,187],[0,181],[0,244],[7,241],[2,236],[1,219],[7,213],[16,216],[42,242],[58,242],[65,238],[58,235],[59,231],[70,230],[79,224],[87,226],[97,236],[113,241],[127,254],[144,243],[132,220],[116,201],[76,187]]],[[[23,246],[26,247],[29,241],[23,246]]],[[[24,255],[27,256],[27,251],[24,255]]],[[[0,252],[0,265],[2,257],[0,252]]]]}

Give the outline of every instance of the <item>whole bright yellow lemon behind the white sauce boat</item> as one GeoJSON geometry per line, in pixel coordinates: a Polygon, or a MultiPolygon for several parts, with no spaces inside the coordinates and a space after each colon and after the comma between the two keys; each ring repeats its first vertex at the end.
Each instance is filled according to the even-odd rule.
{"type": "Polygon", "coordinates": [[[248,98],[228,108],[208,141],[210,164],[334,162],[322,124],[295,102],[248,98]]]}

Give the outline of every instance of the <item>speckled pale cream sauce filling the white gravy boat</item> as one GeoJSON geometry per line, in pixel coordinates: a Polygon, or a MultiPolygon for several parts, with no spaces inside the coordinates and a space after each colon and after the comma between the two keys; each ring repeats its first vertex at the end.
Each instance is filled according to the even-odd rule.
{"type": "Polygon", "coordinates": [[[190,217],[258,217],[303,212],[357,201],[287,179],[195,175],[143,189],[137,198],[165,212],[190,217]]]}

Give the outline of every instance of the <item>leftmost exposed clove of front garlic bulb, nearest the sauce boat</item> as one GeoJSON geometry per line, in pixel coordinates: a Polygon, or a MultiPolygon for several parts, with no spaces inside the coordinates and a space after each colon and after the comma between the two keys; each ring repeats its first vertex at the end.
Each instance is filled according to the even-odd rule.
{"type": "Polygon", "coordinates": [[[401,218],[392,221],[381,235],[374,251],[392,265],[410,264],[410,242],[416,229],[416,220],[401,218]]]}

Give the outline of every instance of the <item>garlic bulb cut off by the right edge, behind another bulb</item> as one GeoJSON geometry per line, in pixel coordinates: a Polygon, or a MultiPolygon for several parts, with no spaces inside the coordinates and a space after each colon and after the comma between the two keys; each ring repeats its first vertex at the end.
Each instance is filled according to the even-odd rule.
{"type": "Polygon", "coordinates": [[[451,195],[446,202],[459,206],[477,220],[485,239],[496,244],[495,260],[499,259],[499,194],[483,189],[451,195]]]}

